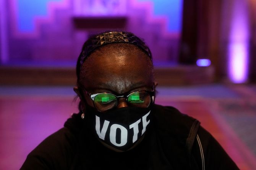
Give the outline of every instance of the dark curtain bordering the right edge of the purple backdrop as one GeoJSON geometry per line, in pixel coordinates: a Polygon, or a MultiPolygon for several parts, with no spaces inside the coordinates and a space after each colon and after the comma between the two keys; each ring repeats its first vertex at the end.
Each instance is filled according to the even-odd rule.
{"type": "Polygon", "coordinates": [[[205,0],[183,1],[181,64],[195,64],[198,58],[208,57],[208,6],[205,0]]]}

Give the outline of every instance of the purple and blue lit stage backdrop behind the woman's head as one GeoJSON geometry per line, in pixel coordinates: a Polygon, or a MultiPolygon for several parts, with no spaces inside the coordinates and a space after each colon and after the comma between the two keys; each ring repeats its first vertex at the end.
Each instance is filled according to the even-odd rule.
{"type": "Polygon", "coordinates": [[[1,0],[1,63],[75,65],[86,38],[126,30],[176,62],[183,0],[1,0]],[[112,23],[112,24],[108,24],[112,23]]]}

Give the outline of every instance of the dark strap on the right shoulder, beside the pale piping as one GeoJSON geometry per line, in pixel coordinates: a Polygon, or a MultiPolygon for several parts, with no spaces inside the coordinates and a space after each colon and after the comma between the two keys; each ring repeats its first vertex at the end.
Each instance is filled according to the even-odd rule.
{"type": "Polygon", "coordinates": [[[191,128],[190,128],[190,133],[188,135],[188,138],[186,140],[186,149],[188,153],[188,159],[190,162],[190,168],[191,168],[191,151],[192,151],[192,146],[194,144],[194,140],[196,138],[196,134],[198,131],[198,128],[200,126],[200,122],[198,120],[194,120],[191,128]]]}

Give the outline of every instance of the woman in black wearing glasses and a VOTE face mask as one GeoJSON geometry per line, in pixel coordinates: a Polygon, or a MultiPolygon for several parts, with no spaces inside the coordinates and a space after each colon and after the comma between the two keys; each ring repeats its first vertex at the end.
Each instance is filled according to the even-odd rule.
{"type": "Polygon", "coordinates": [[[76,75],[80,112],[21,169],[238,169],[196,119],[154,104],[152,54],[133,33],[89,38],[76,75]]]}

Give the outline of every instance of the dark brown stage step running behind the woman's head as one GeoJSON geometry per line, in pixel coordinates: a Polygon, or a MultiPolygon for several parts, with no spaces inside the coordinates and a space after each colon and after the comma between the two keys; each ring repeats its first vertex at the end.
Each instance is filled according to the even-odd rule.
{"type": "MultiPolygon", "coordinates": [[[[159,86],[206,84],[214,82],[214,67],[196,65],[155,65],[159,86]]],[[[1,85],[75,85],[72,65],[4,65],[0,66],[1,85]]]]}

